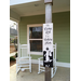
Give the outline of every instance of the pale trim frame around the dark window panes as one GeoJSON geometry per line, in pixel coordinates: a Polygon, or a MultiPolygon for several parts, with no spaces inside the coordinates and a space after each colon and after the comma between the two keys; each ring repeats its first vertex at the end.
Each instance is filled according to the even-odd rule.
{"type": "MultiPolygon", "coordinates": [[[[27,25],[27,44],[29,44],[29,40],[42,40],[42,51],[43,51],[43,24],[31,24],[27,25]],[[29,39],[29,27],[38,27],[42,26],[42,39],[29,39]]],[[[43,55],[43,52],[30,52],[33,55],[43,55]]]]}

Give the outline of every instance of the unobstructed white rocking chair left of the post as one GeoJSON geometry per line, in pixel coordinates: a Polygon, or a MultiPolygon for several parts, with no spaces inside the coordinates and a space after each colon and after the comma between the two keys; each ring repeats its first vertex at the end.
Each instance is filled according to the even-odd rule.
{"type": "Polygon", "coordinates": [[[31,72],[30,45],[19,44],[18,57],[16,58],[16,73],[29,69],[31,72]]]}

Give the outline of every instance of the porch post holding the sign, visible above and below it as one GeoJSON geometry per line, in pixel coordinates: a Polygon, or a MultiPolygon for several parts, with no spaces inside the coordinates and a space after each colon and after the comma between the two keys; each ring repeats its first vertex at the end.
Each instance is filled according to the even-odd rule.
{"type": "MultiPolygon", "coordinates": [[[[45,3],[45,24],[52,23],[52,4],[53,0],[44,0],[45,3]]],[[[51,81],[51,68],[45,67],[45,80],[44,81],[51,81]]]]}

